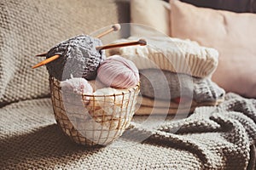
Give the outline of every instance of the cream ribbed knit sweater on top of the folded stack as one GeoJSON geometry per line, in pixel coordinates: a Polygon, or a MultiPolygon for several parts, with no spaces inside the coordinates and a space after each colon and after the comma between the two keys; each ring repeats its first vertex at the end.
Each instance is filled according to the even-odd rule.
{"type": "MultiPolygon", "coordinates": [[[[129,37],[117,42],[131,42],[129,37]]],[[[148,45],[113,48],[109,54],[120,54],[135,63],[139,70],[161,69],[195,77],[211,77],[218,65],[218,51],[197,42],[172,37],[143,37],[148,45]]]]}

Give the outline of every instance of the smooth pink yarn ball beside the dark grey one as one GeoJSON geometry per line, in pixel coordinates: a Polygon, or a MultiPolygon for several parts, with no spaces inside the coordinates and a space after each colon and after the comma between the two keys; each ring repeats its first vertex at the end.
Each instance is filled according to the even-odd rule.
{"type": "Polygon", "coordinates": [[[131,88],[139,82],[136,65],[119,55],[105,59],[98,68],[97,74],[97,78],[111,88],[131,88]]]}

